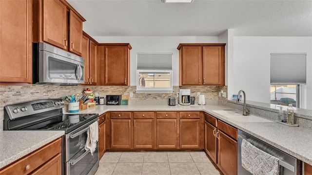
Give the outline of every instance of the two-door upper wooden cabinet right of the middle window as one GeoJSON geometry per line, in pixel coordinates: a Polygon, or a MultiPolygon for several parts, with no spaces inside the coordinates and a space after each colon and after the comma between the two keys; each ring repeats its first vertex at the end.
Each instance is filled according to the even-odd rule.
{"type": "Polygon", "coordinates": [[[179,86],[225,85],[225,44],[179,44],[179,86]]]}

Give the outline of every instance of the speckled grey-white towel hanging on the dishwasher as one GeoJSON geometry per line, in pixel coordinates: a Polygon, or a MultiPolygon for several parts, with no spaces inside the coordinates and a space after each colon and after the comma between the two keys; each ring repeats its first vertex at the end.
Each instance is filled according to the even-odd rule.
{"type": "Polygon", "coordinates": [[[253,175],[279,175],[279,159],[242,140],[242,166],[253,175]]]}

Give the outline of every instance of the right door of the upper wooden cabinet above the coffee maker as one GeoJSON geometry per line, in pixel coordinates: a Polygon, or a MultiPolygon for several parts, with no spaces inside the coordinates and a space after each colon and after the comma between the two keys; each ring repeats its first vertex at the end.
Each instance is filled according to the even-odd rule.
{"type": "Polygon", "coordinates": [[[203,47],[203,84],[221,85],[221,46],[203,47]]]}

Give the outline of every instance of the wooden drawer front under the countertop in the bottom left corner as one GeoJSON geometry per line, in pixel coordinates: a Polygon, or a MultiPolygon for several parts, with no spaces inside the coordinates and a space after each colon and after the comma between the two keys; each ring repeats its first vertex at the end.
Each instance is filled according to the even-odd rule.
{"type": "Polygon", "coordinates": [[[62,152],[62,139],[52,141],[41,149],[21,158],[17,162],[9,165],[0,171],[4,175],[27,175],[35,169],[39,168],[52,157],[62,152]]]}

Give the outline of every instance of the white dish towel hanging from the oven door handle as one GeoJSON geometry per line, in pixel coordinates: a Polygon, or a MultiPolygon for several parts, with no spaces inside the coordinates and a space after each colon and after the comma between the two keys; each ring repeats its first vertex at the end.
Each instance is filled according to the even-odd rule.
{"type": "Polygon", "coordinates": [[[90,124],[89,129],[87,130],[87,140],[84,146],[86,151],[90,150],[91,155],[96,151],[97,142],[98,142],[98,122],[90,124]]]}

